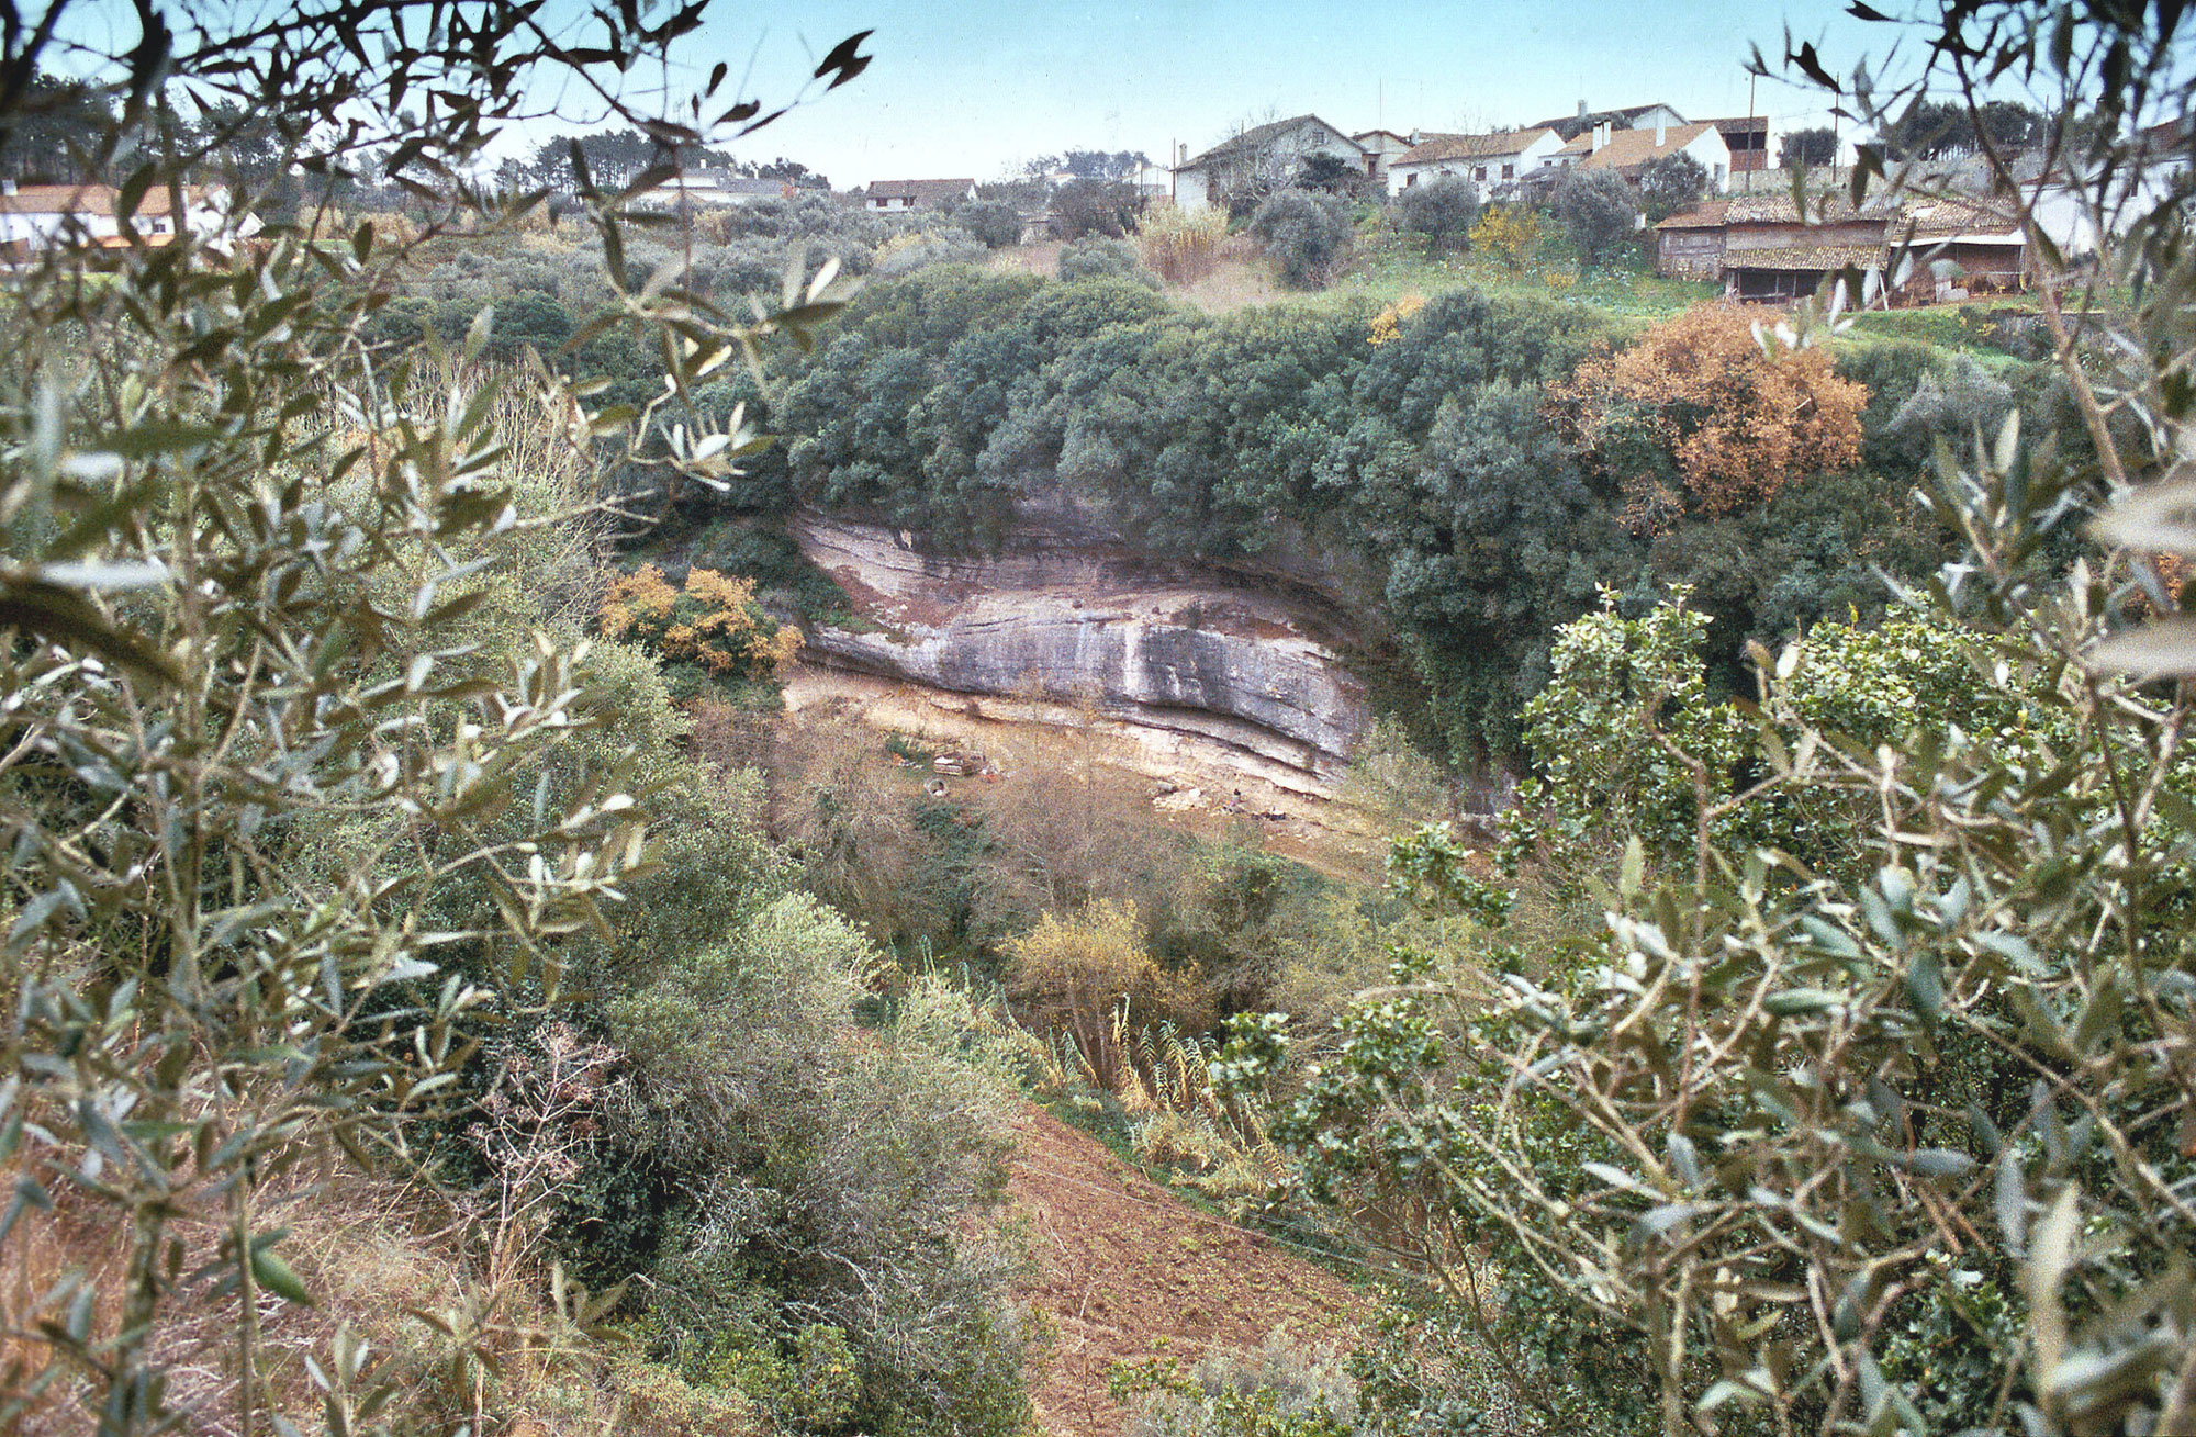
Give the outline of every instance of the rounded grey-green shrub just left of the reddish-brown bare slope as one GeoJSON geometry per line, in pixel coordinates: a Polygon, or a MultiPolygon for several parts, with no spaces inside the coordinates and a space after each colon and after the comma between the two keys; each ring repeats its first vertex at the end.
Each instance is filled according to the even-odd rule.
{"type": "MultiPolygon", "coordinates": [[[[606,1004],[635,1103],[567,1226],[597,1235],[591,1270],[652,1279],[674,1349],[712,1349],[760,1299],[843,1334],[859,1426],[1008,1433],[1028,1402],[1004,1305],[1015,1266],[971,1226],[1004,1187],[1008,1059],[933,980],[850,1044],[878,962],[802,896],[716,947],[659,954],[606,1004]]],[[[797,1364],[788,1332],[780,1356],[797,1364]]]]}

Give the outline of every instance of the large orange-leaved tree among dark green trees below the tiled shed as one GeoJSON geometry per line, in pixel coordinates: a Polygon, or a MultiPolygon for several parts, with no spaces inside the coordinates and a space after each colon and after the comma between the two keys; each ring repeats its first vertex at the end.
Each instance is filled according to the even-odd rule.
{"type": "Polygon", "coordinates": [[[1860,457],[1869,391],[1823,349],[1779,349],[1737,305],[1695,305],[1557,389],[1570,439],[1616,479],[1634,527],[1766,503],[1860,457]]]}

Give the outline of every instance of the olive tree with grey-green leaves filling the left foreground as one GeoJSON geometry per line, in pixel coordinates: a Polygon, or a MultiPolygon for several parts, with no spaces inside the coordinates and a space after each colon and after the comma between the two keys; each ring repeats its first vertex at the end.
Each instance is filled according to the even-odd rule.
{"type": "MultiPolygon", "coordinates": [[[[569,519],[514,503],[496,411],[516,376],[463,378],[492,312],[439,358],[378,349],[369,321],[419,244],[542,202],[466,174],[562,79],[665,156],[773,112],[716,94],[722,66],[681,119],[619,94],[698,7],[604,4],[549,31],[538,7],[501,0],[463,15],[143,4],[90,26],[119,26],[114,51],[72,42],[88,20],[57,4],[0,37],[0,70],[66,64],[112,105],[90,149],[125,176],[108,272],[42,253],[0,327],[0,1244],[22,1259],[48,1224],[99,1213],[114,1279],[64,1277],[22,1314],[0,1424],[64,1393],[101,1433],[250,1437],[277,1419],[264,1314],[312,1301],[257,1195],[343,1154],[402,1158],[408,1118],[452,1094],[474,1020],[553,1002],[571,949],[652,855],[626,760],[573,751],[604,721],[584,646],[551,637],[547,613],[516,646],[470,624],[498,565],[569,519]],[[272,134],[283,180],[371,163],[413,193],[424,233],[329,233],[323,200],[250,242],[233,224],[149,242],[147,196],[180,213],[184,178],[231,138],[198,116],[224,103],[272,134]],[[226,1354],[180,1354],[176,1314],[224,1303],[226,1354]],[[222,1380],[184,1384],[187,1362],[222,1380]]],[[[848,42],[817,79],[865,64],[848,42]]],[[[0,88],[0,149],[26,116],[24,90],[0,88]]],[[[654,442],[663,406],[773,336],[806,336],[837,303],[830,275],[788,277],[760,319],[672,272],[628,288],[624,204],[665,167],[615,191],[584,156],[573,169],[610,257],[613,305],[591,332],[659,336],[663,396],[597,409],[538,360],[512,393],[567,453],[606,444],[665,483],[722,483],[751,444],[742,424],[654,442]]],[[[257,200],[239,189],[233,220],[257,200]]],[[[316,1382],[336,1430],[404,1422],[356,1340],[316,1382]]]]}

